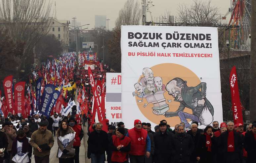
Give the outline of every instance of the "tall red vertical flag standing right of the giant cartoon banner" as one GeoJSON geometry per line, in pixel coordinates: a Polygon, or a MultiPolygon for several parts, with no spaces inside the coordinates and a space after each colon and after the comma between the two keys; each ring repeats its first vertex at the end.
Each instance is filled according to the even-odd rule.
{"type": "Polygon", "coordinates": [[[233,108],[233,119],[234,123],[242,123],[243,124],[243,117],[242,117],[242,109],[241,109],[241,102],[238,90],[238,78],[236,74],[235,66],[232,68],[230,72],[230,91],[231,91],[231,101],[232,101],[232,108],[233,108]]]}

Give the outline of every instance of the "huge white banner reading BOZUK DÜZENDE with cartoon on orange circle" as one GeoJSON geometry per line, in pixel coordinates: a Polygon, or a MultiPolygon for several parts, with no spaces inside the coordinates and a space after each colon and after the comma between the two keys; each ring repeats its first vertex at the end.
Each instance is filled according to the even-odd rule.
{"type": "Polygon", "coordinates": [[[121,52],[127,128],[223,121],[217,28],[122,26],[121,52]]]}

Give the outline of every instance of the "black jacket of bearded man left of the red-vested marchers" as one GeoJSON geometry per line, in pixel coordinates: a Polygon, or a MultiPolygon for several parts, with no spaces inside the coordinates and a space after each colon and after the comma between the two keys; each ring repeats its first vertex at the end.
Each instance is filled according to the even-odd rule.
{"type": "Polygon", "coordinates": [[[98,133],[97,131],[91,132],[88,138],[88,156],[91,155],[91,153],[94,154],[103,154],[107,150],[108,147],[108,138],[107,138],[107,132],[100,131],[98,133]]]}

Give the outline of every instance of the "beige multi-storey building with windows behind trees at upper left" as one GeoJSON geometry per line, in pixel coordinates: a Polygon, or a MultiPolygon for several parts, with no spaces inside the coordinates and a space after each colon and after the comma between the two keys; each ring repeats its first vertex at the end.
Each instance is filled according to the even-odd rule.
{"type": "Polygon", "coordinates": [[[63,42],[63,50],[68,51],[67,46],[69,46],[69,29],[68,25],[70,24],[69,20],[58,20],[53,18],[51,20],[49,34],[54,35],[60,41],[63,42]]]}

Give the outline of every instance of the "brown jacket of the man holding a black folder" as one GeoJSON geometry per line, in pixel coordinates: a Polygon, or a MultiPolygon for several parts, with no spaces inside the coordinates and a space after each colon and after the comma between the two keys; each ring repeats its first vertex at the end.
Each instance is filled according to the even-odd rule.
{"type": "Polygon", "coordinates": [[[34,155],[38,157],[44,157],[46,155],[50,155],[51,148],[54,144],[53,134],[49,130],[45,130],[45,132],[41,132],[39,129],[32,133],[30,142],[30,146],[34,148],[34,155]],[[47,144],[50,149],[43,150],[42,152],[39,152],[37,147],[47,144]]]}

